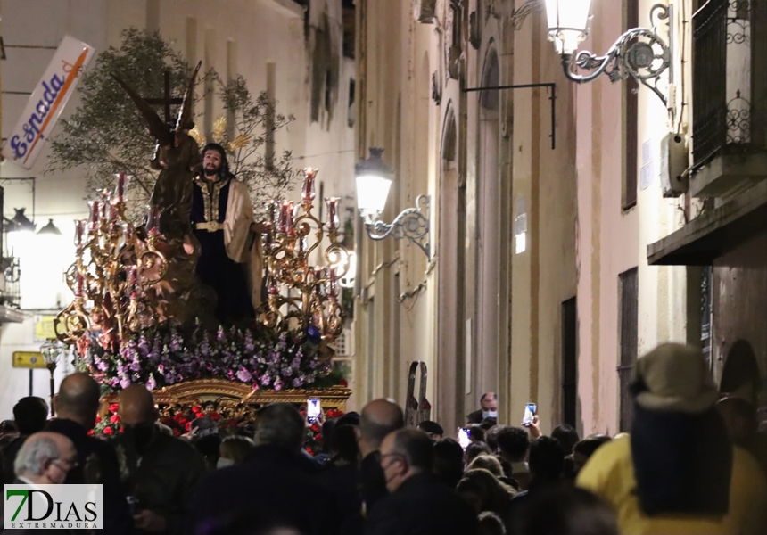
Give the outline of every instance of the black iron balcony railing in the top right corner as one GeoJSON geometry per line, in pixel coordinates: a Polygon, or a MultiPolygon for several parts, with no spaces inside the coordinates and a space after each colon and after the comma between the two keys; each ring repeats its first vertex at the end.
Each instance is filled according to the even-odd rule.
{"type": "Polygon", "coordinates": [[[694,169],[725,150],[764,149],[767,126],[752,119],[763,107],[765,26],[759,0],[708,0],[693,15],[694,169]]]}

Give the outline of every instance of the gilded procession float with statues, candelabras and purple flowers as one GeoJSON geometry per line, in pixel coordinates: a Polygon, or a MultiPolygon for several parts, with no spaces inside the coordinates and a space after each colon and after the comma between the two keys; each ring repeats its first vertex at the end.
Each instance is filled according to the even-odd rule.
{"type": "MultiPolygon", "coordinates": [[[[126,174],[88,202],[66,274],[74,300],[56,317],[56,335],[102,385],[106,407],[140,383],[182,427],[203,415],[246,424],[263,404],[309,398],[340,414],[351,391],[332,358],[344,322],[339,281],[350,262],[338,198],[325,200],[320,221],[318,169],[303,169],[301,202],[269,201],[266,221],[255,222],[224,149],[208,144],[201,153],[190,136],[197,70],[175,127],[167,107],[162,120],[116,78],[157,140],[151,165],[159,175],[140,224],[127,214],[126,174]],[[219,161],[209,165],[209,152],[219,161]]],[[[106,414],[97,429],[110,434],[114,423],[106,414]]]]}

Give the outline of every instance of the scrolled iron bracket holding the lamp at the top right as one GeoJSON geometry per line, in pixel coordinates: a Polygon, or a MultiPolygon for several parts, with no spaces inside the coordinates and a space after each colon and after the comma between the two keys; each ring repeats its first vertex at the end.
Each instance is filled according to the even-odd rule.
{"type": "MultiPolygon", "coordinates": [[[[669,18],[668,7],[655,4],[650,9],[650,24],[657,19],[664,21],[669,18]]],[[[583,84],[599,78],[606,73],[611,82],[626,78],[634,78],[638,83],[649,87],[658,98],[668,107],[666,95],[658,87],[660,76],[671,63],[671,49],[653,29],[634,28],[625,32],[607,50],[605,55],[598,56],[589,51],[575,54],[574,63],[589,74],[580,75],[573,72],[573,54],[562,54],[562,68],[565,76],[573,82],[583,84]]]]}

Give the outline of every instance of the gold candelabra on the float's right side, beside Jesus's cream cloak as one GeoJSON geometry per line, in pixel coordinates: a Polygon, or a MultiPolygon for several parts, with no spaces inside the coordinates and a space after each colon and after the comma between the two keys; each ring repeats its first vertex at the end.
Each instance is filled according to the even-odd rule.
{"type": "Polygon", "coordinates": [[[303,169],[300,204],[276,200],[267,203],[269,220],[263,233],[263,250],[268,300],[261,307],[261,321],[278,330],[314,326],[324,339],[332,340],[343,329],[339,280],[349,271],[350,253],[339,239],[339,198],[325,199],[325,223],[312,213],[317,173],[318,169],[303,169]],[[310,244],[313,228],[315,240],[310,244]],[[326,237],[329,243],[322,251],[325,264],[312,265],[312,253],[326,237]]]}

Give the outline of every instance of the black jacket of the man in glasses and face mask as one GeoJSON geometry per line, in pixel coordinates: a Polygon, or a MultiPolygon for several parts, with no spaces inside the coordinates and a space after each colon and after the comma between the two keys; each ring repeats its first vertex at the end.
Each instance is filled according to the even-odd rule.
{"type": "Polygon", "coordinates": [[[455,490],[431,474],[416,474],[376,504],[366,535],[474,535],[477,517],[455,490]]]}

